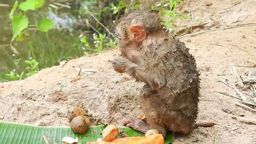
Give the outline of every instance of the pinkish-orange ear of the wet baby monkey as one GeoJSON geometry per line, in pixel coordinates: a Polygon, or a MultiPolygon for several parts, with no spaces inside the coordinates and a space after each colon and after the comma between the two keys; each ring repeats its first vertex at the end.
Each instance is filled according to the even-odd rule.
{"type": "Polygon", "coordinates": [[[130,33],[132,37],[137,42],[142,42],[147,36],[146,31],[144,30],[143,26],[141,25],[135,25],[130,27],[130,33]]]}

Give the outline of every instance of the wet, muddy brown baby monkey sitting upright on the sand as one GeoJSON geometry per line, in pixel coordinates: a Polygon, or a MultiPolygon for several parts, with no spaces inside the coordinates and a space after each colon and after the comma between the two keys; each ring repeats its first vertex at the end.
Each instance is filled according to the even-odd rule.
{"type": "Polygon", "coordinates": [[[185,44],[161,25],[158,11],[137,10],[116,22],[122,57],[113,60],[118,73],[145,83],[139,103],[147,124],[130,118],[126,126],[189,134],[198,113],[199,74],[185,44]]]}

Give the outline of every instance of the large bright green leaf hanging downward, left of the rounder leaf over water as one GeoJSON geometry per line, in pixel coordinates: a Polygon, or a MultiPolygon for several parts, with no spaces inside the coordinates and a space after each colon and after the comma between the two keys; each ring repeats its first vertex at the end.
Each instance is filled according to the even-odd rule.
{"type": "Polygon", "coordinates": [[[15,39],[17,36],[20,35],[21,31],[25,28],[28,27],[28,18],[26,15],[21,16],[15,16],[12,20],[12,41],[15,39]]]}

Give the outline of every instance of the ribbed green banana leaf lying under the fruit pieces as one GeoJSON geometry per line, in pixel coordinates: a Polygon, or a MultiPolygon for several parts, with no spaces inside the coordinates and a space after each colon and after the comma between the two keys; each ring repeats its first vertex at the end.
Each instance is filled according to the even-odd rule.
{"type": "MultiPolygon", "coordinates": [[[[85,134],[75,134],[68,126],[34,126],[18,123],[0,122],[0,143],[2,144],[43,144],[45,135],[50,143],[63,143],[63,137],[78,138],[78,143],[87,143],[87,141],[97,141],[102,138],[100,134],[105,129],[104,125],[90,126],[85,134]]],[[[130,137],[143,137],[144,134],[135,131],[129,127],[118,127],[130,137]]],[[[122,137],[119,135],[119,137],[122,137]]],[[[166,143],[173,142],[174,134],[169,133],[165,139],[166,143]]]]}

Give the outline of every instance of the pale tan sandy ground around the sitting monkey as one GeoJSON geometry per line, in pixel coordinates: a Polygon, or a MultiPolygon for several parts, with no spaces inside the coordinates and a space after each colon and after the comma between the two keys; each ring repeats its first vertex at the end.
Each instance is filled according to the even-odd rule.
{"type": "MultiPolygon", "coordinates": [[[[206,23],[204,29],[245,25],[256,22],[256,1],[188,1],[181,11],[193,13],[193,20],[179,21],[189,27],[206,23]]],[[[194,30],[197,31],[197,30],[194,30]]],[[[233,94],[234,90],[219,82],[226,79],[235,85],[230,66],[251,66],[256,63],[256,26],[211,31],[183,37],[201,71],[198,122],[215,122],[210,128],[175,137],[174,143],[256,143],[256,125],[232,117],[251,119],[255,113],[235,106],[239,100],[215,91],[233,94]]],[[[126,116],[137,116],[141,108],[136,100],[143,83],[130,76],[116,73],[110,60],[118,57],[117,49],[99,55],[70,60],[64,65],[39,71],[22,81],[0,83],[0,121],[23,124],[68,125],[67,110],[83,105],[93,118],[121,125],[126,116]],[[98,70],[95,74],[81,73],[74,67],[98,70]],[[63,89],[61,89],[63,87],[63,89]]],[[[251,68],[238,67],[246,78],[251,68]]],[[[240,90],[242,91],[242,90],[240,90]]],[[[242,91],[254,99],[248,90],[242,91]]]]}

